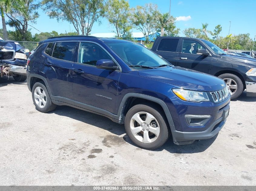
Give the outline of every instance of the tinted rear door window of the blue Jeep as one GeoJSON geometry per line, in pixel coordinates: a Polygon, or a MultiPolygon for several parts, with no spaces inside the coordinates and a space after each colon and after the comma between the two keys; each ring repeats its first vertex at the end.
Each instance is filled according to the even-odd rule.
{"type": "Polygon", "coordinates": [[[56,43],[53,49],[52,57],[71,61],[75,54],[76,42],[60,42],[56,43]]]}

